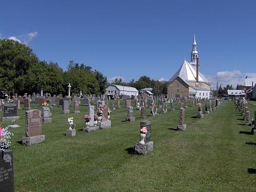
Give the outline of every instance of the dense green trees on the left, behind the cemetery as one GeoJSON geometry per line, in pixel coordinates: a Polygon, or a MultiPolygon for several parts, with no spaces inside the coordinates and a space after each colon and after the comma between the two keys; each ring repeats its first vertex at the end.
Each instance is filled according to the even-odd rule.
{"type": "Polygon", "coordinates": [[[71,93],[104,94],[108,81],[103,74],[83,63],[69,62],[63,71],[57,62],[41,61],[32,49],[12,39],[0,39],[0,91],[17,93],[44,93],[68,95],[71,93]]]}

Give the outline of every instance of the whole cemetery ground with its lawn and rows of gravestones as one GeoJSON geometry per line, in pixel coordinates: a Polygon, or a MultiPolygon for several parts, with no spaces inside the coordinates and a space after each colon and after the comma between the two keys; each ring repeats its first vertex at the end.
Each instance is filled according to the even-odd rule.
{"type": "Polygon", "coordinates": [[[201,100],[193,106],[187,99],[183,108],[150,100],[151,108],[145,102],[133,110],[136,99],[118,99],[121,107],[110,110],[111,103],[80,100],[73,106],[63,100],[62,108],[55,100],[50,111],[32,103],[23,110],[24,102],[12,122],[10,115],[1,121],[2,128],[18,126],[9,127],[11,146],[1,152],[0,186],[32,192],[256,188],[256,101],[201,100]],[[155,103],[166,112],[153,115],[162,111],[155,103]],[[98,122],[97,105],[103,109],[98,122]]]}

